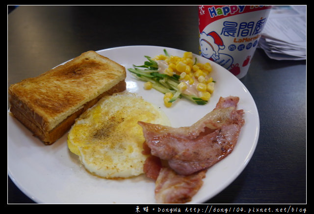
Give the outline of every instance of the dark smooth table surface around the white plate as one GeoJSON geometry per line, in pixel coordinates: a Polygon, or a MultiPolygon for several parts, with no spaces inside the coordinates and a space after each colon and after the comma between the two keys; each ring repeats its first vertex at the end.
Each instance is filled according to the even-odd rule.
{"type": "MultiPolygon", "coordinates": [[[[87,50],[152,45],[198,54],[197,10],[197,6],[19,6],[8,14],[8,86],[87,50]]],[[[259,141],[235,181],[205,203],[305,204],[306,61],[277,61],[257,49],[241,82],[259,111],[259,141]]],[[[8,203],[35,202],[8,177],[8,203]]]]}

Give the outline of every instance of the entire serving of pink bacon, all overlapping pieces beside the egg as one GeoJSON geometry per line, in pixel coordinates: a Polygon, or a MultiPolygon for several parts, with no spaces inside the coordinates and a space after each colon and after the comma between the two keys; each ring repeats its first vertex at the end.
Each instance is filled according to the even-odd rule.
{"type": "Polygon", "coordinates": [[[157,203],[186,203],[202,187],[207,168],[233,151],[244,124],[238,97],[220,97],[215,109],[189,127],[138,121],[146,142],[144,172],[156,181],[157,203]],[[164,161],[167,161],[166,165],[164,161]]]}

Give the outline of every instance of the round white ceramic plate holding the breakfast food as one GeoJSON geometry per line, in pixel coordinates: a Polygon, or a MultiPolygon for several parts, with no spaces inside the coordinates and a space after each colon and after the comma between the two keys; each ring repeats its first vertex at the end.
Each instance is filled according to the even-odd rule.
{"type": "MultiPolygon", "coordinates": [[[[127,46],[98,51],[100,54],[128,68],[142,65],[144,55],[156,56],[164,47],[127,46]]],[[[183,56],[183,50],[165,48],[170,55],[183,56]]],[[[188,50],[187,50],[188,51],[188,50]]],[[[196,56],[196,55],[195,55],[196,56]]],[[[197,56],[198,62],[209,61],[197,56]]],[[[220,96],[239,96],[238,109],[245,112],[234,151],[209,168],[204,185],[189,203],[204,203],[235,180],[251,159],[258,142],[260,121],[256,104],[245,86],[229,71],[209,61],[215,91],[207,105],[195,105],[180,99],[171,108],[163,105],[163,95],[143,89],[127,71],[127,90],[141,95],[159,106],[169,117],[172,126],[189,126],[209,113],[220,96]]],[[[106,180],[88,173],[80,165],[78,156],[67,148],[67,134],[47,146],[34,138],[19,121],[8,114],[8,175],[28,197],[37,203],[99,203],[153,204],[155,184],[144,175],[125,180],[106,180]]]]}

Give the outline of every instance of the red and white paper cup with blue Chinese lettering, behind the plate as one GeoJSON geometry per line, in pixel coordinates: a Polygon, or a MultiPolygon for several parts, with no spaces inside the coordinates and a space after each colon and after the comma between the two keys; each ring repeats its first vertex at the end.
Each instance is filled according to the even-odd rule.
{"type": "Polygon", "coordinates": [[[200,55],[232,72],[246,75],[271,6],[199,6],[200,55]]]}

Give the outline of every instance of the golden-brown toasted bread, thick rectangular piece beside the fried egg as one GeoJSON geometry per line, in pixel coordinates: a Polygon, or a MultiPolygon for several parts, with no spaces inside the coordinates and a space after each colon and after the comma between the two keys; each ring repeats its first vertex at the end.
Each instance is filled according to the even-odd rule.
{"type": "Polygon", "coordinates": [[[124,91],[125,78],[123,66],[87,51],[64,65],[11,85],[10,112],[40,140],[52,144],[104,95],[124,91]]]}

